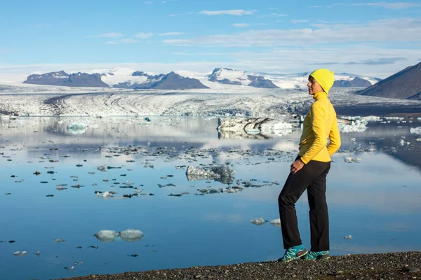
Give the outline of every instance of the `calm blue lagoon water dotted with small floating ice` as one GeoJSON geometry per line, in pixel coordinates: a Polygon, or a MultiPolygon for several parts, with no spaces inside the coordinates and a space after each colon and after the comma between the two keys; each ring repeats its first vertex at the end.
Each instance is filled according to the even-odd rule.
{"type": "MultiPolygon", "coordinates": [[[[279,218],[277,197],[301,131],[218,134],[217,123],[193,117],[1,120],[1,279],[279,258],[281,229],[250,220],[279,218]],[[188,166],[225,166],[235,174],[194,180],[186,176],[188,166]],[[220,192],[232,186],[243,190],[220,192]],[[95,191],[116,194],[104,199],[95,191]],[[120,199],[129,194],[138,196],[120,199]],[[93,236],[127,229],[144,237],[102,242],[93,236]]],[[[328,175],[331,254],[421,250],[421,136],[410,133],[420,125],[370,123],[365,132],[341,134],[328,175]]],[[[306,195],[297,211],[309,247],[306,195]]]]}

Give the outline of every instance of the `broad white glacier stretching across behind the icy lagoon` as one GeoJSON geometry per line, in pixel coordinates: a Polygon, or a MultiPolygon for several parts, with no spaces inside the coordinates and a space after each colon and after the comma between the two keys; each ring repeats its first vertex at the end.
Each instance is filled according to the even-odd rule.
{"type": "MultiPolygon", "coordinates": [[[[209,82],[211,83],[211,82],[209,82]]],[[[1,85],[0,116],[220,116],[284,118],[305,115],[313,99],[305,90],[219,85],[201,90],[133,90],[101,87],[1,85]],[[219,87],[220,86],[220,87],[219,87]]],[[[367,97],[334,88],[338,115],[419,112],[415,100],[367,97]]]]}

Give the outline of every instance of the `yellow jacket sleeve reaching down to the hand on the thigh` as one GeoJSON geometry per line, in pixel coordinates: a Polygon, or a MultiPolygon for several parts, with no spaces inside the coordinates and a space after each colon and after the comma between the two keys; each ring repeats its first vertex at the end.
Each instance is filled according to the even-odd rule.
{"type": "Polygon", "coordinates": [[[312,130],[314,133],[314,142],[301,157],[301,161],[305,164],[312,160],[328,144],[328,138],[326,137],[325,129],[325,120],[327,117],[326,110],[319,102],[314,102],[310,108],[310,113],[312,114],[312,130]]]}

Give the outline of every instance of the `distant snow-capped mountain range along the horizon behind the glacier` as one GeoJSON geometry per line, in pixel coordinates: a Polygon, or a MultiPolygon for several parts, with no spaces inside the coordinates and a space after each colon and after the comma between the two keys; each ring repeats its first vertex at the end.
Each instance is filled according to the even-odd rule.
{"type": "MultiPolygon", "coordinates": [[[[35,85],[64,85],[70,87],[114,87],[124,89],[161,90],[213,90],[255,88],[306,88],[309,72],[302,73],[259,73],[227,68],[215,68],[212,73],[177,71],[167,74],[146,73],[130,68],[92,69],[90,71],[66,73],[57,71],[32,74],[23,83],[35,85]],[[182,76],[180,76],[182,75],[182,76]]],[[[335,73],[334,87],[369,87],[378,78],[349,73],[335,73]]]]}

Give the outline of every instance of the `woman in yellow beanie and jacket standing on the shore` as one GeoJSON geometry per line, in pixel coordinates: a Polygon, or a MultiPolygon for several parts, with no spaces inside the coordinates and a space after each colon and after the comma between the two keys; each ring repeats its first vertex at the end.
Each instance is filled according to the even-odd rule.
{"type": "Polygon", "coordinates": [[[328,69],[317,69],[309,76],[307,87],[314,103],[304,119],[298,157],[290,166],[290,174],[278,197],[283,246],[286,249],[279,259],[282,262],[295,258],[329,258],[326,175],[330,169],[330,156],[340,147],[336,113],[328,99],[334,81],[333,72],[328,69]],[[310,251],[302,245],[295,212],[295,202],[306,189],[310,207],[310,251]]]}

